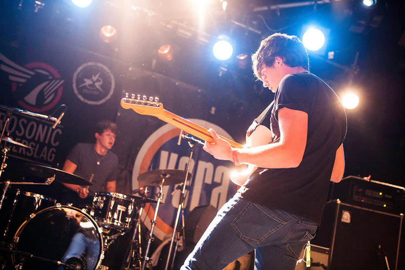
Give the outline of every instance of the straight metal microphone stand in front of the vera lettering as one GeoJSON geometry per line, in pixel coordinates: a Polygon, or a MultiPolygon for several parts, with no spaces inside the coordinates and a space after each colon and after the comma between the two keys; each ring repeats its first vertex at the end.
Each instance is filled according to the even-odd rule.
{"type": "Polygon", "coordinates": [[[177,237],[176,237],[176,246],[174,248],[173,259],[171,261],[170,269],[173,269],[174,259],[176,257],[177,249],[179,247],[180,242],[182,242],[182,243],[185,242],[184,241],[185,240],[184,199],[186,198],[186,196],[185,196],[186,185],[187,185],[187,181],[190,179],[189,186],[191,186],[192,178],[191,178],[191,174],[189,173],[189,171],[190,171],[190,164],[191,164],[193,154],[194,154],[194,149],[195,149],[195,147],[198,147],[199,144],[203,145],[203,143],[200,140],[197,140],[197,139],[195,139],[193,137],[190,137],[190,136],[187,136],[187,135],[183,135],[182,133],[180,133],[180,136],[179,136],[179,143],[180,143],[180,138],[188,139],[188,144],[191,147],[191,151],[190,151],[189,161],[188,161],[188,164],[187,164],[187,170],[186,170],[186,175],[185,175],[185,178],[184,178],[184,182],[181,183],[182,189],[181,189],[180,198],[179,198],[179,206],[177,208],[177,214],[176,214],[176,219],[175,219],[175,222],[174,222],[173,233],[171,235],[171,240],[170,240],[169,253],[167,255],[166,266],[165,266],[164,270],[168,269],[168,265],[169,265],[169,262],[170,262],[170,256],[171,256],[171,252],[172,252],[172,247],[173,247],[173,242],[174,242],[175,235],[177,235],[177,237]],[[178,222],[179,222],[179,218],[180,218],[180,213],[181,213],[181,221],[182,221],[182,226],[181,226],[181,232],[182,233],[181,234],[180,234],[180,231],[177,231],[177,226],[178,226],[178,222]]]}

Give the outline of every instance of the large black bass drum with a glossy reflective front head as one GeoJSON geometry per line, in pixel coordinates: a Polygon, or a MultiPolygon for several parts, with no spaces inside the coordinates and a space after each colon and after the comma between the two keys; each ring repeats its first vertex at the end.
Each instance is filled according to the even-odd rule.
{"type": "Polygon", "coordinates": [[[24,222],[14,236],[12,249],[16,269],[62,270],[59,261],[79,262],[83,269],[94,270],[103,257],[103,237],[90,215],[76,207],[56,205],[24,222]]]}

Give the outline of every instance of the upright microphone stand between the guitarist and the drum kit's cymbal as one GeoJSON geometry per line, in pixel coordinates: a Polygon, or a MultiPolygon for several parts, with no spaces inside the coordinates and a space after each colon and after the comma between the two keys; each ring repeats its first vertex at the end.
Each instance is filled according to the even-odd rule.
{"type": "MultiPolygon", "coordinates": [[[[192,160],[192,158],[193,158],[193,153],[194,153],[195,146],[198,146],[199,144],[202,144],[202,145],[204,144],[202,141],[197,140],[197,139],[195,139],[195,138],[193,138],[193,137],[190,137],[190,136],[187,136],[187,135],[183,135],[183,134],[180,134],[180,136],[181,136],[182,138],[188,139],[188,144],[189,144],[189,146],[191,147],[191,152],[190,152],[189,162],[188,162],[188,164],[187,164],[186,178],[184,179],[184,182],[181,184],[181,185],[183,185],[183,188],[182,188],[181,193],[180,193],[179,206],[178,206],[178,208],[177,208],[176,220],[175,220],[175,222],[174,222],[173,233],[172,233],[172,235],[171,235],[171,240],[170,240],[169,254],[167,255],[166,266],[165,266],[164,270],[167,270],[167,269],[168,269],[168,266],[169,266],[170,255],[171,255],[171,251],[172,251],[172,248],[173,248],[174,236],[176,235],[176,232],[177,232],[177,224],[178,224],[178,222],[179,222],[180,213],[183,214],[183,215],[182,215],[182,233],[183,233],[182,236],[183,236],[183,240],[185,239],[185,231],[184,231],[184,211],[183,211],[183,208],[184,208],[184,199],[185,199],[184,193],[185,193],[185,191],[186,191],[186,184],[187,184],[187,180],[188,180],[187,178],[188,178],[188,174],[189,174],[189,171],[190,171],[190,164],[191,164],[191,160],[192,160]],[[194,144],[193,142],[196,143],[196,144],[194,144]]],[[[191,182],[191,179],[190,179],[190,182],[191,182]]],[[[191,186],[191,183],[190,183],[189,186],[191,186]]],[[[178,235],[178,238],[177,238],[177,240],[176,240],[176,249],[177,249],[177,247],[178,247],[179,240],[180,240],[180,235],[178,235]]],[[[176,256],[176,250],[174,251],[174,254],[173,254],[173,259],[172,259],[171,267],[173,267],[175,256],[176,256]]]]}

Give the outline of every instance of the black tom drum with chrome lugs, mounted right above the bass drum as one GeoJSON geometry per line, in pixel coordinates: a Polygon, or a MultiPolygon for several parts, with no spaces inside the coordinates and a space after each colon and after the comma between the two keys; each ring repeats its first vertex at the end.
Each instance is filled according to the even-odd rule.
{"type": "Polygon", "coordinates": [[[134,211],[134,200],[120,193],[97,192],[93,199],[90,215],[97,223],[108,229],[130,228],[134,211]]]}

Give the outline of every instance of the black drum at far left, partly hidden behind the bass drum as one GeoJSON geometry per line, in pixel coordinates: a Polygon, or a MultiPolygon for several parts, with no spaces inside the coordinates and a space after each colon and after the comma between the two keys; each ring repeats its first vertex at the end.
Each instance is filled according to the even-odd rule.
{"type": "Polygon", "coordinates": [[[20,227],[31,214],[56,204],[55,199],[37,193],[22,192],[20,190],[17,190],[14,196],[9,196],[7,199],[9,199],[8,204],[10,205],[10,209],[5,214],[7,220],[2,233],[5,243],[11,243],[12,237],[18,227],[20,227]]]}

